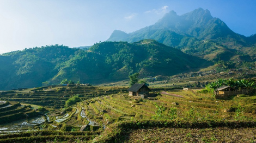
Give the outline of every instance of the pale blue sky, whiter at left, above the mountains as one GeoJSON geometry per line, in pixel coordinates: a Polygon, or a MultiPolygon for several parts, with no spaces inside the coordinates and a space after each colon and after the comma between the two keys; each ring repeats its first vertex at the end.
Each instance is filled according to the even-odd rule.
{"type": "Polygon", "coordinates": [[[256,34],[254,0],[0,0],[0,54],[63,44],[90,46],[113,30],[132,32],[174,10],[208,9],[239,34],[256,34]]]}

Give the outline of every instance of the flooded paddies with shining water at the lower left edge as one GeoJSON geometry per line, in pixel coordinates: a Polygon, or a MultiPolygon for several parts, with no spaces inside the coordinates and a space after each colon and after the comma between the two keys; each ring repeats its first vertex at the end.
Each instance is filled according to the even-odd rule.
{"type": "Polygon", "coordinates": [[[37,116],[35,118],[23,119],[8,124],[0,125],[0,134],[9,134],[9,133],[21,133],[27,131],[36,131],[39,128],[40,124],[46,122],[44,116],[37,116]]]}

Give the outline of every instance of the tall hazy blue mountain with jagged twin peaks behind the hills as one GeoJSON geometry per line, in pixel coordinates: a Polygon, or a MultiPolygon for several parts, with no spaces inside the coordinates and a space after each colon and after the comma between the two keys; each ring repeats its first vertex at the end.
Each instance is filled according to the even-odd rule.
{"type": "Polygon", "coordinates": [[[210,56],[210,59],[215,62],[218,60],[235,62],[237,61],[236,57],[244,59],[240,57],[241,55],[248,56],[249,58],[246,58],[245,61],[252,62],[256,60],[256,51],[252,50],[256,43],[255,37],[255,35],[246,37],[236,34],[221,19],[212,17],[209,10],[199,8],[181,16],[170,11],[154,25],[129,34],[114,30],[107,41],[136,42],[143,39],[154,39],[187,54],[200,57],[210,56]],[[230,58],[220,59],[218,57],[223,54],[223,49],[227,51],[230,58]],[[212,57],[212,53],[218,54],[212,57]]]}

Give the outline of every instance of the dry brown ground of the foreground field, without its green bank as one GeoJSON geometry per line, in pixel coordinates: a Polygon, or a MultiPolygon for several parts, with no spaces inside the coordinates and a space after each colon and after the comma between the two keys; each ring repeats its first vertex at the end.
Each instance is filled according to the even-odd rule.
{"type": "Polygon", "coordinates": [[[256,128],[153,128],[130,130],[123,142],[256,142],[256,128]]]}

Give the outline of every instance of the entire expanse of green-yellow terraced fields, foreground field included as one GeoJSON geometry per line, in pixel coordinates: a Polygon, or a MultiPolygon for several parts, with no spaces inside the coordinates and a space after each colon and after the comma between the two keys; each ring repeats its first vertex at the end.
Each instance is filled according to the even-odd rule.
{"type": "MultiPolygon", "coordinates": [[[[221,141],[221,136],[218,136],[220,134],[215,129],[230,131],[225,134],[227,140],[223,140],[224,142],[256,141],[256,96],[240,95],[230,100],[217,100],[211,94],[198,93],[197,90],[151,88],[157,96],[139,99],[128,96],[126,89],[79,86],[4,92],[1,100],[8,101],[11,105],[19,104],[19,101],[21,104],[44,106],[50,112],[40,116],[45,121],[29,128],[31,132],[27,132],[27,129],[19,134],[0,135],[0,142],[29,142],[32,139],[38,142],[221,141]],[[63,108],[65,101],[72,95],[80,96],[82,101],[63,108]],[[161,121],[152,120],[156,115],[161,121]],[[229,125],[235,124],[237,126],[232,126],[232,130],[229,125]],[[179,137],[175,133],[177,129],[179,137]],[[241,133],[237,133],[235,129],[241,133]],[[245,135],[242,131],[249,131],[253,135],[245,135]],[[204,133],[204,136],[198,136],[200,133],[204,133]],[[232,135],[233,133],[236,135],[232,135]],[[160,134],[161,138],[153,138],[160,134]],[[212,139],[215,140],[211,140],[213,135],[212,139]],[[173,136],[177,138],[170,138],[173,136]],[[186,140],[182,140],[182,137],[186,137],[186,140]],[[249,140],[246,141],[246,138],[249,140]]],[[[15,108],[19,109],[18,107],[31,109],[29,105],[15,108]]],[[[26,121],[27,124],[33,124],[29,123],[29,119],[26,121]]],[[[3,128],[8,128],[8,125],[2,125],[2,131],[3,128]]],[[[8,131],[4,133],[6,132],[8,131]]]]}

